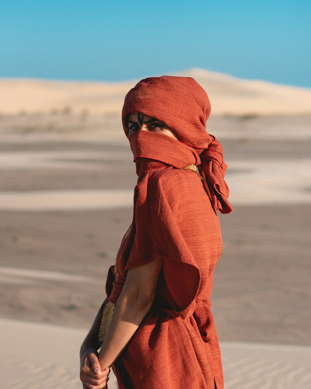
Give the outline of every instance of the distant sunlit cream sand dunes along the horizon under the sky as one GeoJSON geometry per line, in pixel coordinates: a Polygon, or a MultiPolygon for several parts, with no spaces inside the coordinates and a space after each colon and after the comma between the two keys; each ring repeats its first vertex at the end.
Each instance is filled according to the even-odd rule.
{"type": "MultiPolygon", "coordinates": [[[[311,114],[311,89],[244,80],[201,69],[172,75],[196,79],[210,97],[213,114],[311,114]]],[[[137,81],[0,79],[0,112],[119,113],[124,96],[137,81]]]]}

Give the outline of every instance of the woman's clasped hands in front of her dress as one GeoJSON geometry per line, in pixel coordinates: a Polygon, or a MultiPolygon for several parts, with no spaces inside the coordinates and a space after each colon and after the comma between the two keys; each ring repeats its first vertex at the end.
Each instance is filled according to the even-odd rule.
{"type": "Polygon", "coordinates": [[[80,380],[82,381],[83,389],[107,388],[109,373],[109,367],[101,370],[97,350],[88,349],[82,354],[80,360],[80,380]]]}

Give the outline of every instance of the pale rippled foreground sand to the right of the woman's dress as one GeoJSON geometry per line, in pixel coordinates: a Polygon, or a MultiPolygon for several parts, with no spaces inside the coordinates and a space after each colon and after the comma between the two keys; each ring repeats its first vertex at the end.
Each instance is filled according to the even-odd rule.
{"type": "Polygon", "coordinates": [[[309,389],[311,347],[221,344],[225,389],[309,389]]]}

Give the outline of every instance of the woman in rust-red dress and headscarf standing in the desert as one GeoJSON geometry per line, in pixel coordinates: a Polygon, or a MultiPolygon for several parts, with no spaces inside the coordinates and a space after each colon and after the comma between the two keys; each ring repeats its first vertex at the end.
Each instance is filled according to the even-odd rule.
{"type": "Polygon", "coordinates": [[[222,147],[205,130],[209,114],[189,77],[144,79],[126,95],[133,223],[81,347],[84,389],[106,387],[110,366],[120,389],[223,389],[210,294],[222,249],[216,211],[232,207],[222,147]]]}

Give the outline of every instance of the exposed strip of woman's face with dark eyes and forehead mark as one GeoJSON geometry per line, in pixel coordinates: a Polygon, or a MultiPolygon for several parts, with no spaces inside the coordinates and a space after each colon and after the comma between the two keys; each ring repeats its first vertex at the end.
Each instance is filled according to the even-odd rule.
{"type": "Polygon", "coordinates": [[[178,140],[177,135],[165,123],[158,119],[142,114],[141,112],[133,112],[128,118],[129,135],[138,130],[157,132],[167,135],[168,137],[178,140]]]}

